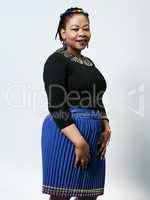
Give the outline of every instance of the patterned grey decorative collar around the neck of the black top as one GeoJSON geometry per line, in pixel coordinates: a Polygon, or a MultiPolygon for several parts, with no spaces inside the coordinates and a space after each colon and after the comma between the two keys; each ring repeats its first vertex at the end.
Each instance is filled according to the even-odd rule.
{"type": "Polygon", "coordinates": [[[71,61],[74,61],[74,62],[77,62],[77,63],[80,63],[80,64],[83,64],[83,65],[87,65],[87,66],[93,66],[93,63],[90,61],[89,58],[81,55],[81,58],[77,57],[77,56],[74,56],[72,54],[70,54],[66,49],[64,49],[63,47],[62,48],[59,48],[56,50],[56,52],[64,55],[65,57],[67,58],[70,58],[71,61]]]}

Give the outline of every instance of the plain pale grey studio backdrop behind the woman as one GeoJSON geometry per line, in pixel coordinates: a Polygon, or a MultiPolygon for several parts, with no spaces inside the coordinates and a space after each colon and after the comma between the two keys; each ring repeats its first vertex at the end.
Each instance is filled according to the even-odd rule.
{"type": "Polygon", "coordinates": [[[41,193],[41,128],[48,114],[42,72],[59,15],[71,6],[90,14],[92,38],[83,54],[107,80],[104,104],[112,128],[104,200],[148,200],[148,1],[3,1],[0,8],[1,199],[48,199],[41,193]]]}

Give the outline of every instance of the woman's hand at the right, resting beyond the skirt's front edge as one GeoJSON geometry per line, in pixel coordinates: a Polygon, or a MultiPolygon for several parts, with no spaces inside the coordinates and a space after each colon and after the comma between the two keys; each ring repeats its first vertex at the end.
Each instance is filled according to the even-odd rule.
{"type": "Polygon", "coordinates": [[[103,132],[102,135],[100,136],[100,139],[98,141],[99,145],[99,150],[98,150],[98,156],[100,156],[100,159],[103,159],[106,153],[106,146],[110,142],[110,137],[111,137],[111,129],[109,126],[109,122],[106,120],[102,120],[103,124],[103,132]]]}

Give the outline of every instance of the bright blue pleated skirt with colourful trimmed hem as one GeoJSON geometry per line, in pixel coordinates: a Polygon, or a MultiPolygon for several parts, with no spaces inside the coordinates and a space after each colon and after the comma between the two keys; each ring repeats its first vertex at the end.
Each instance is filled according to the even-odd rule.
{"type": "Polygon", "coordinates": [[[49,114],[43,121],[42,193],[63,197],[97,197],[104,194],[105,157],[97,156],[102,133],[101,113],[95,109],[69,108],[71,117],[90,146],[87,168],[75,166],[75,146],[49,114]]]}

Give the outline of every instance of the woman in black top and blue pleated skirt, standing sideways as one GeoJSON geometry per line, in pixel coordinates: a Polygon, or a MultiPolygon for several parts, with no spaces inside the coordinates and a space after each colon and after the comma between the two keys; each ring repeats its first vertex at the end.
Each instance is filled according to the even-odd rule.
{"type": "Polygon", "coordinates": [[[102,102],[106,81],[81,54],[90,41],[88,13],[70,8],[57,29],[63,47],[46,60],[43,80],[49,115],[42,126],[42,192],[56,199],[104,194],[109,119],[102,102]]]}

